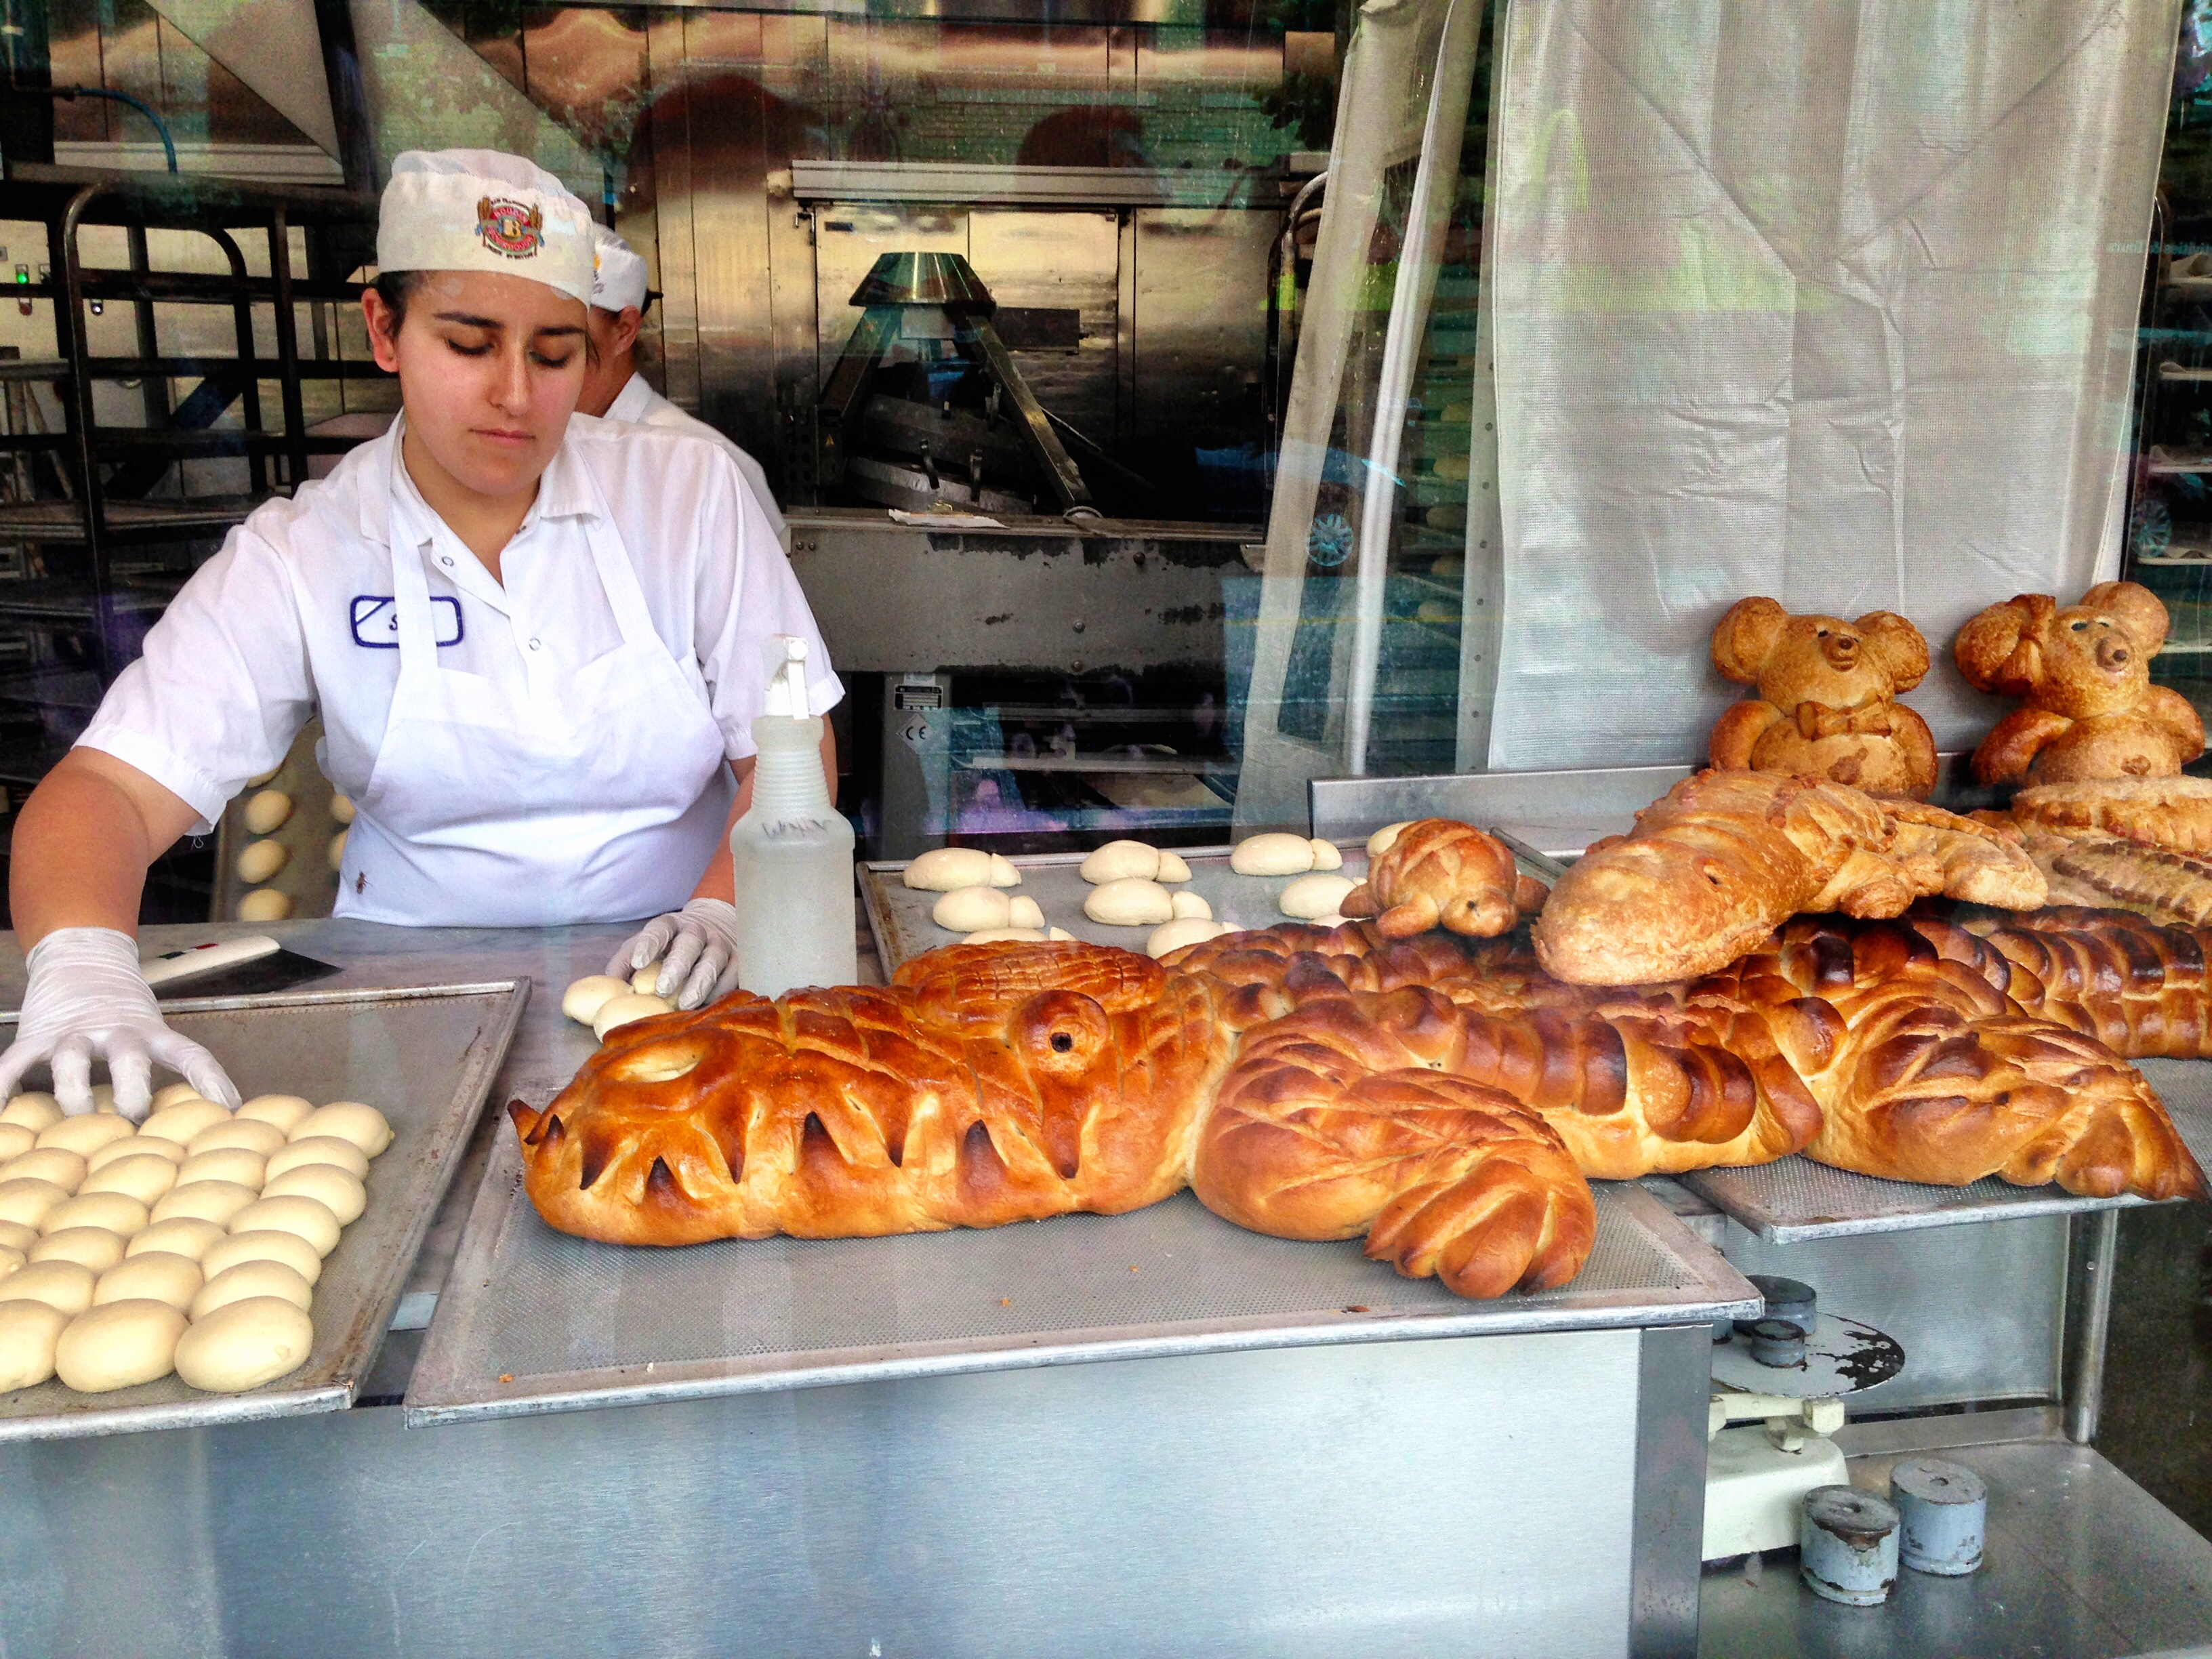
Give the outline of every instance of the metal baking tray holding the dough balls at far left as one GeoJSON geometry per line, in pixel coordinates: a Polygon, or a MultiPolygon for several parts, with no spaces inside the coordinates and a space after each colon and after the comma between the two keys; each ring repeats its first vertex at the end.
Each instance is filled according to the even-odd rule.
{"type": "MultiPolygon", "coordinates": [[[[323,1263],[314,1349],[296,1371],[246,1394],[201,1394],[175,1376],[113,1394],[42,1383],[0,1396],[0,1442],[199,1429],[349,1407],[526,998],[529,980],[495,980],[164,1004],[168,1024],[204,1042],[248,1097],[285,1093],[376,1106],[392,1121],[392,1146],[369,1164],[369,1206],[323,1263]]],[[[0,1015],[0,1024],[13,1022],[15,1015],[0,1015]]]]}

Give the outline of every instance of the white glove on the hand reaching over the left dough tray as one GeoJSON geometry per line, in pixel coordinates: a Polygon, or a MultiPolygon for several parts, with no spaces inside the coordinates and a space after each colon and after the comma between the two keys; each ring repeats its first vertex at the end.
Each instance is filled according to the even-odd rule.
{"type": "Polygon", "coordinates": [[[93,1110],[93,1055],[108,1062],[115,1110],[133,1124],[153,1104],[155,1062],[208,1099],[239,1108],[239,1091],[215,1055],[161,1024],[137,964],[137,940],[113,927],[62,927],[31,947],[31,989],[22,998],[15,1044],[0,1055],[0,1099],[40,1062],[53,1068],[53,1095],[71,1117],[93,1110]]]}

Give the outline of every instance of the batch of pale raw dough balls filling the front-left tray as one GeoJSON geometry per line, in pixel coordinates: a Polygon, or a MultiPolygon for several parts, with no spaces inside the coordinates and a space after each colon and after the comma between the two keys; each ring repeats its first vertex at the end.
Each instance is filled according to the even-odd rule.
{"type": "Polygon", "coordinates": [[[173,1084],[133,1128],[15,1095],[0,1110],[0,1391],[175,1371],[230,1394],[299,1369],[323,1256],[389,1144],[385,1115],[349,1099],[257,1095],[230,1113],[173,1084]]]}

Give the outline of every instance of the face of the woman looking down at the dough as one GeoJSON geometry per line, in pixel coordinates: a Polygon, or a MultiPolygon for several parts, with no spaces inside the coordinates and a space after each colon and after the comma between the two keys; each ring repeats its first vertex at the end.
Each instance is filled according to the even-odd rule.
{"type": "Polygon", "coordinates": [[[361,307],[429,458],[480,495],[535,489],[584,389],[584,301],[529,276],[434,270],[396,332],[376,290],[361,307]]]}

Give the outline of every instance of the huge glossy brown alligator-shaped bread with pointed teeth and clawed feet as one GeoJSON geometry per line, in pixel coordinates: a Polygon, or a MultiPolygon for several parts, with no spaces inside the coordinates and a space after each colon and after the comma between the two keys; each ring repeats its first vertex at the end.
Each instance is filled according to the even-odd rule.
{"type": "Polygon", "coordinates": [[[533,1206],[591,1239],[927,1232],[1188,1186],[1241,1225],[1365,1234],[1402,1274],[1498,1296],[1582,1267],[1586,1177],[1805,1150],[2201,1194],[2121,1053],[2212,1055],[2208,942],[2084,911],[1801,918],[1648,989],[1564,984],[1517,933],[1360,922],[1161,962],[956,945],[880,989],[622,1026],[542,1113],[509,1113],[533,1206]]]}

